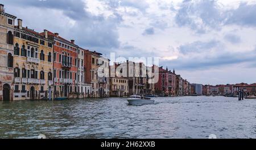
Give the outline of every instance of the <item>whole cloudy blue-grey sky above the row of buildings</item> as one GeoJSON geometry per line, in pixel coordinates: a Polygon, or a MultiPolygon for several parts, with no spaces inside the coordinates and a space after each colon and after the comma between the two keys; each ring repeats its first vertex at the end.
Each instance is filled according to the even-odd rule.
{"type": "Polygon", "coordinates": [[[23,26],[109,57],[159,57],[191,83],[256,83],[256,1],[2,0],[23,26]]]}

